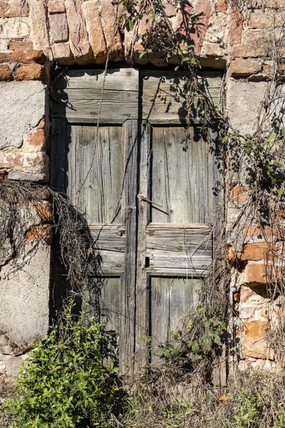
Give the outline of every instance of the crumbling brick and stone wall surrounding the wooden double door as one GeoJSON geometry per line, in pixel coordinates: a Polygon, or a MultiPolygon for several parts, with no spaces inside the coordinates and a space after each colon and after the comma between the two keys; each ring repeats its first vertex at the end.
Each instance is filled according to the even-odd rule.
{"type": "MultiPolygon", "coordinates": [[[[274,39],[279,39],[284,25],[285,0],[193,0],[191,3],[194,13],[202,12],[191,33],[195,53],[202,66],[224,71],[225,116],[237,131],[251,133],[266,90],[266,78],[272,71],[274,39]],[[239,4],[248,7],[239,8],[239,4]]],[[[175,0],[165,0],[164,4],[173,31],[183,44],[189,23],[185,23],[180,6],[184,4],[187,8],[187,4],[175,0]]],[[[102,66],[110,48],[111,62],[126,61],[130,65],[134,62],[146,67],[147,63],[166,65],[157,54],[140,58],[143,48],[139,41],[131,55],[133,32],[119,29],[113,39],[115,21],[110,0],[0,0],[0,173],[5,171],[9,179],[48,183],[48,108],[53,66],[102,66]]],[[[145,29],[147,22],[143,19],[138,34],[145,29]]],[[[285,73],[285,46],[282,49],[280,79],[285,73]]],[[[175,58],[170,63],[175,63],[175,58]]],[[[282,113],[281,106],[276,108],[282,113]]],[[[247,189],[236,186],[231,190],[228,228],[246,198],[247,189]]],[[[250,233],[244,232],[242,248],[229,242],[229,263],[237,257],[242,261],[242,269],[232,270],[231,297],[239,314],[242,359],[269,367],[274,355],[266,335],[271,322],[275,322],[276,303],[271,303],[266,295],[266,243],[259,238],[254,224],[251,227],[250,233]]],[[[23,272],[14,272],[9,280],[1,278],[4,295],[1,305],[7,308],[14,302],[18,308],[11,320],[3,315],[7,309],[2,310],[0,305],[0,330],[3,330],[0,371],[7,370],[8,374],[15,373],[7,368],[15,352],[3,352],[1,340],[5,346],[7,340],[28,344],[46,334],[49,275],[46,245],[41,240],[38,253],[28,267],[36,272],[35,283],[40,288],[33,289],[33,283],[23,272]],[[19,282],[24,284],[21,292],[11,300],[11,289],[19,282]],[[33,302],[31,296],[35,298],[33,302]],[[40,308],[37,313],[34,302],[40,308]],[[26,312],[22,312],[23,305],[26,312]],[[24,330],[19,325],[20,319],[27,322],[24,330]]],[[[9,267],[2,267],[1,277],[8,270],[9,267]]]]}

